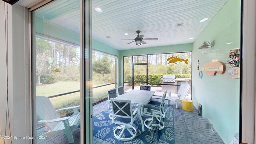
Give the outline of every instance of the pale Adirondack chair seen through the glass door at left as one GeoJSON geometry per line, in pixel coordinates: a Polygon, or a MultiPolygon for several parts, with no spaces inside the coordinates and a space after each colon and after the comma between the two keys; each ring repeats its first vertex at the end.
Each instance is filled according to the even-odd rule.
{"type": "Polygon", "coordinates": [[[80,106],[72,106],[68,108],[62,108],[59,110],[73,109],[74,114],[60,118],[58,115],[59,110],[55,110],[49,98],[46,96],[36,96],[36,114],[41,119],[38,123],[45,123],[50,130],[42,134],[41,136],[54,136],[60,134],[67,134],[68,143],[73,143],[74,138],[72,130],[80,126],[80,112],[78,108],[80,106]]]}

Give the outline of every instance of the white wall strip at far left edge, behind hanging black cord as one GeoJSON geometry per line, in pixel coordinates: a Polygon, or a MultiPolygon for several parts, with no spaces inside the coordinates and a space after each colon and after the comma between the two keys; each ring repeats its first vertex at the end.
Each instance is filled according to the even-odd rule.
{"type": "MultiPolygon", "coordinates": [[[[7,11],[7,6],[6,6],[7,11]]],[[[12,7],[8,6],[8,100],[9,100],[9,112],[10,112],[10,129],[13,134],[13,104],[12,104],[12,7]]],[[[6,123],[6,48],[5,48],[5,23],[4,23],[4,2],[0,1],[0,129],[2,130],[2,135],[5,133],[5,123],[6,123]]],[[[6,14],[7,19],[7,14],[6,14]]],[[[9,127],[7,126],[6,135],[9,135],[9,127]]],[[[3,144],[4,140],[0,139],[0,144],[3,144]]],[[[7,141],[6,144],[10,144],[7,141]]]]}

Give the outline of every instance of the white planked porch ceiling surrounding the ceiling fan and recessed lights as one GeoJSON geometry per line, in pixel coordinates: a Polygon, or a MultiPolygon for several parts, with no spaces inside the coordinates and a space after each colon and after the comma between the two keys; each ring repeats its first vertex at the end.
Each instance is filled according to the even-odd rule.
{"type": "MultiPolygon", "coordinates": [[[[21,0],[23,1],[23,0],[21,0]]],[[[75,32],[79,27],[79,1],[55,0],[39,17],[75,32]]],[[[118,50],[192,43],[227,0],[93,0],[93,39],[118,50]],[[102,12],[96,12],[99,7],[102,12]],[[205,22],[199,21],[208,18],[205,22]],[[177,26],[183,22],[184,25],[177,26]],[[147,44],[126,44],[141,30],[147,44]],[[128,33],[126,36],[124,33],[128,33]],[[106,38],[110,36],[110,38],[106,38]],[[189,38],[194,37],[190,40],[189,38]]],[[[41,12],[38,12],[41,13],[41,12]]]]}

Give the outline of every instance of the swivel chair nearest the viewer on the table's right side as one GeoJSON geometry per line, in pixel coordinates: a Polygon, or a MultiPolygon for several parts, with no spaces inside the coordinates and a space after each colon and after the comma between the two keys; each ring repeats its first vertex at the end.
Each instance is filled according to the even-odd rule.
{"type": "Polygon", "coordinates": [[[142,114],[152,117],[144,121],[144,125],[150,130],[152,130],[152,126],[157,126],[159,130],[164,129],[163,114],[164,114],[164,100],[166,97],[166,92],[167,91],[164,92],[164,95],[159,107],[149,106],[149,105],[143,106],[142,114]],[[156,120],[158,121],[158,124],[153,124],[154,118],[156,118],[156,120]]]}

